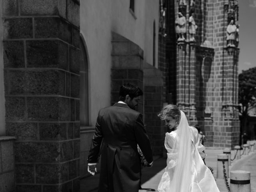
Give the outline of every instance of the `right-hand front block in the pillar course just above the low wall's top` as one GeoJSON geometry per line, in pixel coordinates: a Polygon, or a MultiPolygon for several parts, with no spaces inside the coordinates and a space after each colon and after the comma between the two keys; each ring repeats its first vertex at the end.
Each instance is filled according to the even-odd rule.
{"type": "Polygon", "coordinates": [[[67,126],[65,123],[39,123],[40,140],[66,140],[67,126]]]}

